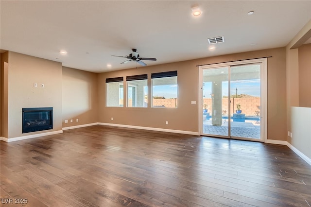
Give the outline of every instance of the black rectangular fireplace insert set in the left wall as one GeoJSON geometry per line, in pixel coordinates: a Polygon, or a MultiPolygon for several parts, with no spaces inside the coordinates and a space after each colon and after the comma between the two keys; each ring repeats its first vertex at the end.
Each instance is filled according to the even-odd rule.
{"type": "Polygon", "coordinates": [[[23,108],[22,133],[53,129],[53,107],[23,108]]]}

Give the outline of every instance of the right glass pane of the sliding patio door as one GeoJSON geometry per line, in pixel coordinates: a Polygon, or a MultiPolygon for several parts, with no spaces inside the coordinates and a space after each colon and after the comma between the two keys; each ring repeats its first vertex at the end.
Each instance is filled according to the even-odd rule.
{"type": "Polygon", "coordinates": [[[260,138],[260,65],[231,67],[231,136],[260,138]]]}

